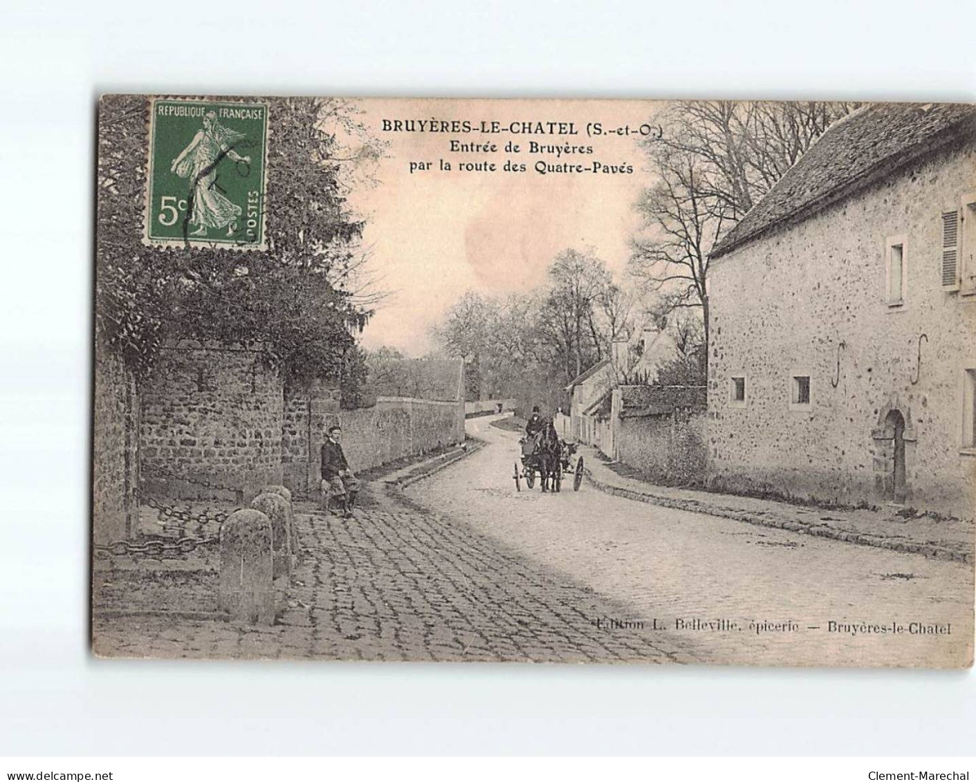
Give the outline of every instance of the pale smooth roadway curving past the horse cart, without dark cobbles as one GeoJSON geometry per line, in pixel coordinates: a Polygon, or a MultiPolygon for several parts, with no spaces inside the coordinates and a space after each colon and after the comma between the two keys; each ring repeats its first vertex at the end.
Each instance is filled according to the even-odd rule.
{"type": "Polygon", "coordinates": [[[612,631],[615,637],[684,641],[697,659],[732,664],[972,659],[971,566],[633,502],[588,484],[579,492],[518,493],[510,478],[517,435],[484,419],[468,426],[491,445],[407,493],[437,508],[444,524],[474,528],[629,606],[645,629],[612,631]],[[648,630],[655,619],[671,632],[648,630]],[[679,619],[684,628],[675,630],[679,619]],[[695,619],[738,629],[691,629],[695,619]],[[831,632],[832,621],[906,629],[831,632]],[[795,629],[757,634],[751,622],[795,629]],[[919,634],[909,631],[913,623],[952,626],[948,635],[919,634]]]}

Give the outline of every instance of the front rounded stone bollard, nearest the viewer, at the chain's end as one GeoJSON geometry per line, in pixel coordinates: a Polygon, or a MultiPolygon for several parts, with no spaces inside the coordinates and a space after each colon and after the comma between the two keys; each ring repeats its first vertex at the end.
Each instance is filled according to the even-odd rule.
{"type": "Polygon", "coordinates": [[[221,527],[218,606],[232,619],[274,624],[271,522],[257,510],[238,510],[221,527]]]}

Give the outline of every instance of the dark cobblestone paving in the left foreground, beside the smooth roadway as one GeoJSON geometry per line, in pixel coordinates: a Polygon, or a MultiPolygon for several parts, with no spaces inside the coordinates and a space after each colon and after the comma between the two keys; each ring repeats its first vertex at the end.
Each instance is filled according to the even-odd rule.
{"type": "MultiPolygon", "coordinates": [[[[193,618],[216,610],[213,558],[160,572],[95,572],[104,655],[351,660],[692,661],[680,644],[612,634],[628,608],[383,489],[353,520],[298,513],[305,561],[275,626],[193,618]],[[145,606],[141,615],[129,611],[145,606]],[[157,610],[162,608],[165,613],[157,610]],[[128,609],[128,611],[127,611],[128,609]],[[188,615],[187,615],[188,614],[188,615]]],[[[309,508],[305,508],[309,510],[309,508]]]]}

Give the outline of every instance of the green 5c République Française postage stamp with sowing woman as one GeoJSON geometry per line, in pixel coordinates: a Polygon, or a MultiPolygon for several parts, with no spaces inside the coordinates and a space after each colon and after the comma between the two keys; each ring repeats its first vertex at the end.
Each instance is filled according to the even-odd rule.
{"type": "Polygon", "coordinates": [[[153,98],[145,240],[264,250],[267,104],[153,98]]]}

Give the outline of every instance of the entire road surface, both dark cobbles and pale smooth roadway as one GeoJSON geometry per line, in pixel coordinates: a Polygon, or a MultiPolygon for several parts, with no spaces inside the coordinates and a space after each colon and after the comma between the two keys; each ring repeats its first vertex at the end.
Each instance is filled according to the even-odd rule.
{"type": "Polygon", "coordinates": [[[215,553],[94,571],[105,655],[960,665],[972,568],[609,496],[515,492],[516,435],[351,521],[296,507],[304,560],[273,627],[216,618],[215,553]],[[436,510],[433,510],[436,509],[436,510]],[[830,623],[849,625],[837,632],[830,623]],[[682,624],[683,623],[683,624],[682,624]],[[779,625],[754,632],[756,623],[779,625]],[[865,632],[862,623],[906,627],[865,632]],[[917,634],[909,625],[951,625],[917,634]]]}

